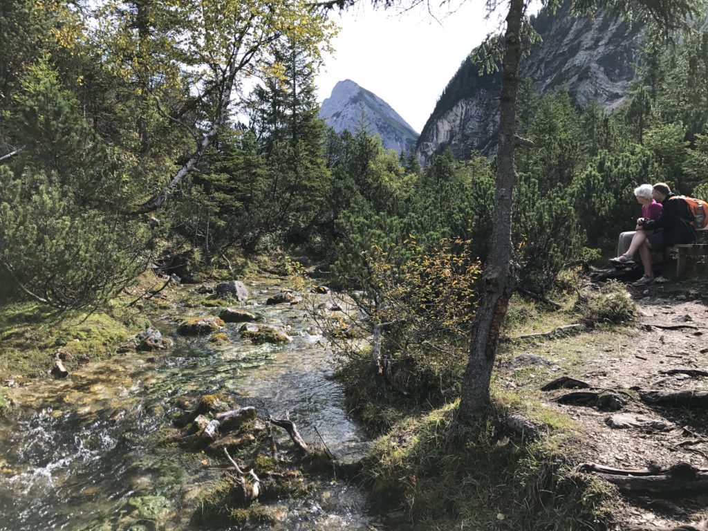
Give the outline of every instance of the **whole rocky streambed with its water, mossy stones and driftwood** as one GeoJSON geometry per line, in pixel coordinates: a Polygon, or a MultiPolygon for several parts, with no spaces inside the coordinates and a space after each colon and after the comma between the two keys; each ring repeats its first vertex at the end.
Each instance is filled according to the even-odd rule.
{"type": "MultiPolygon", "coordinates": [[[[330,379],[329,346],[287,283],[246,282],[248,297],[173,288],[182,302],[149,315],[167,341],[143,334],[68,377],[8,389],[0,530],[370,529],[346,477],[368,440],[330,379]],[[232,430],[230,446],[202,440],[199,422],[239,408],[256,418],[232,430]],[[285,430],[268,429],[269,417],[295,423],[319,464],[303,460],[285,430]],[[258,474],[255,502],[233,501],[242,476],[224,448],[258,474]]],[[[313,296],[333,307],[329,293],[313,296]]]]}

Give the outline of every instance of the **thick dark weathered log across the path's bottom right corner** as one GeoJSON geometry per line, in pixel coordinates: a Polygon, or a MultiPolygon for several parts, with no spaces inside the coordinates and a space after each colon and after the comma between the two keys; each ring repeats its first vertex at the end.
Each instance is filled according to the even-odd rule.
{"type": "Polygon", "coordinates": [[[613,469],[595,463],[586,463],[580,468],[584,472],[595,472],[626,493],[657,496],[708,493],[708,469],[697,469],[688,463],[678,463],[668,469],[613,469]]]}

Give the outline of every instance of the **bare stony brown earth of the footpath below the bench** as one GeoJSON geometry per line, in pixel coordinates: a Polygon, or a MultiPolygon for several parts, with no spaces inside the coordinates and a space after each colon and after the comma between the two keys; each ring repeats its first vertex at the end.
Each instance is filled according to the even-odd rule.
{"type": "MultiPolygon", "coordinates": [[[[666,375],[673,369],[708,370],[708,283],[683,285],[692,290],[687,300],[682,285],[655,285],[634,290],[640,308],[639,321],[626,331],[593,331],[572,338],[529,344],[526,352],[542,356],[542,367],[529,367],[513,358],[523,350],[513,349],[503,361],[503,386],[525,388],[544,406],[564,413],[581,426],[580,458],[619,469],[670,467],[687,462],[708,469],[708,413],[703,410],[648,406],[639,390],[707,391],[708,377],[666,375]],[[697,291],[696,291],[697,288],[697,291]],[[661,329],[656,326],[683,326],[661,329]],[[593,388],[607,389],[624,399],[621,411],[599,411],[588,406],[561,405],[554,399],[571,389],[540,392],[539,388],[561,375],[581,379],[593,388]],[[607,420],[627,413],[663,424],[652,428],[610,428],[607,420]]],[[[598,390],[595,389],[595,390],[598,390]]],[[[646,525],[647,529],[696,523],[708,518],[708,495],[671,499],[622,498],[617,516],[624,529],[646,525]]]]}

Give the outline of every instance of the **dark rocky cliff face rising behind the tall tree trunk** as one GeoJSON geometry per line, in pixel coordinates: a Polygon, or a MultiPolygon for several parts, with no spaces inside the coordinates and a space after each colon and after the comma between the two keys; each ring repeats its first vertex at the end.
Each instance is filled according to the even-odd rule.
{"type": "MultiPolygon", "coordinates": [[[[580,106],[595,100],[605,108],[622,103],[634,77],[641,29],[615,21],[605,13],[595,21],[569,16],[567,6],[555,15],[539,13],[532,21],[543,41],[523,60],[520,74],[539,93],[565,87],[580,106]]],[[[499,118],[501,74],[479,76],[466,59],[428,118],[416,150],[423,164],[443,147],[458,158],[473,149],[493,153],[499,118]]]]}

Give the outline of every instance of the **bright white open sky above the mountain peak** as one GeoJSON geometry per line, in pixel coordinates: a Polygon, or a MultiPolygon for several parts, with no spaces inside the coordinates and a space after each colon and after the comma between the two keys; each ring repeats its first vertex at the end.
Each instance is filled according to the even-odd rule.
{"type": "Polygon", "coordinates": [[[449,16],[440,11],[438,21],[423,9],[398,15],[359,4],[333,16],[341,31],[316,80],[319,102],[337,81],[351,79],[420,133],[447,82],[498,21],[485,20],[479,0],[465,1],[449,16]]]}

